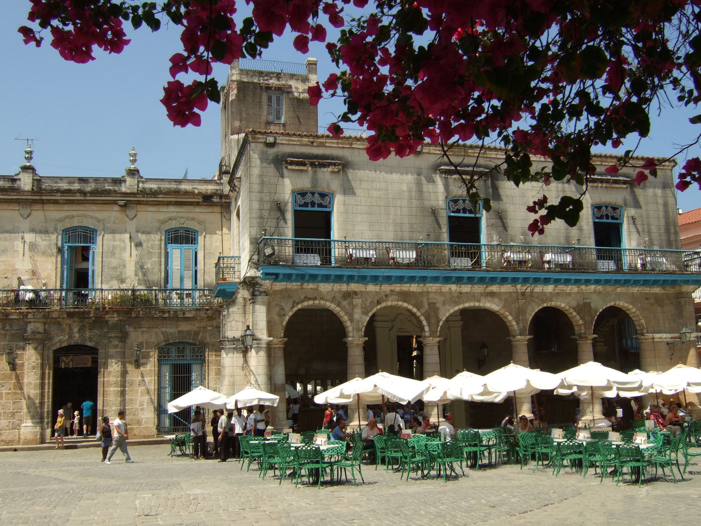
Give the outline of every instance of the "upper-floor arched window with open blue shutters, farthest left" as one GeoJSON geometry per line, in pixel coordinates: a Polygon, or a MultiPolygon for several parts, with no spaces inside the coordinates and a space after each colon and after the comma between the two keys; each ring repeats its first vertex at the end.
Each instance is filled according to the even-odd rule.
{"type": "Polygon", "coordinates": [[[95,240],[97,232],[88,227],[70,227],[62,232],[61,288],[95,287],[95,240]]]}

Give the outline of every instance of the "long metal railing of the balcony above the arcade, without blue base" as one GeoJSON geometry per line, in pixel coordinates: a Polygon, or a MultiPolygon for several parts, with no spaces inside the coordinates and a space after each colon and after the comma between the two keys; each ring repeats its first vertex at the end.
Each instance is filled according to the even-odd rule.
{"type": "Polygon", "coordinates": [[[263,237],[261,264],[308,267],[404,267],[456,270],[586,271],[695,274],[696,252],[580,245],[352,241],[263,237]]]}

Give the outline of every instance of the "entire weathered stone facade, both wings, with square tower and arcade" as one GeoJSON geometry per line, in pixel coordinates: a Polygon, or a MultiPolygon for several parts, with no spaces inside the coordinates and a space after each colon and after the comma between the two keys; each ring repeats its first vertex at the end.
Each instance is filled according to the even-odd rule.
{"type": "MultiPolygon", "coordinates": [[[[46,440],[68,396],[93,396],[98,414],[125,407],[132,434],[147,437],[184,423],[165,403],[196,384],[283,399],[291,384],[315,427],[315,393],[379,370],[697,365],[679,342],[701,275],[679,245],[672,163],[639,188],[597,157],[577,227],[532,238],[525,207],[540,187],[494,170],[479,183],[486,212],[437,147],[371,162],[362,137],[316,133],[315,60],[250,66],[235,63],[222,88],[212,180],[144,179],[133,165],[121,179],[41,177],[29,161],[0,177],[0,316],[13,349],[0,443],[46,440]]],[[[454,160],[489,170],[503,151],[477,155],[465,145],[454,160]]],[[[552,423],[578,405],[537,401],[552,423]]],[[[517,406],[531,412],[531,400],[517,406]]],[[[491,426],[505,407],[450,409],[458,426],[491,426]]]]}

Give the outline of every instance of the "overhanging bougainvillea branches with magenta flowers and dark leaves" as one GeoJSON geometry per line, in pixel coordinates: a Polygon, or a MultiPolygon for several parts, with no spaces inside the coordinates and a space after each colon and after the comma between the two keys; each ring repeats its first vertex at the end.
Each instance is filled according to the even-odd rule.
{"type": "MultiPolygon", "coordinates": [[[[74,62],[94,60],[95,46],[120,53],[129,43],[123,22],[156,31],[167,19],[182,27],[161,100],[174,126],[198,126],[207,100],[219,102],[213,62],[256,58],[286,29],[307,53],[311,41],[326,41],[327,27],[340,28],[326,44],[339,72],[308,88],[311,104],[343,97],[346,111],[329,133],[364,126],[372,160],[440,144],[471,200],[482,199],[484,175],[476,161],[470,170],[451,159],[457,142],[501,144],[503,162],[489,173],[517,187],[564,181],[586,191],[597,173],[592,148],[648,136],[653,104],[701,102],[701,0],[247,0],[252,15],[238,22],[235,0],[30,3],[34,27],[19,29],[25,43],[41,45],[46,31],[74,62]],[[187,86],[176,79],[189,72],[203,79],[187,86]],[[534,167],[533,159],[548,162],[534,167]]],[[[613,177],[625,168],[641,185],[668,160],[640,162],[626,151],[605,171],[613,177]]],[[[678,179],[679,190],[701,187],[700,159],[688,159],[678,179]]],[[[531,234],[554,220],[576,224],[583,195],[534,201],[531,234]]]]}

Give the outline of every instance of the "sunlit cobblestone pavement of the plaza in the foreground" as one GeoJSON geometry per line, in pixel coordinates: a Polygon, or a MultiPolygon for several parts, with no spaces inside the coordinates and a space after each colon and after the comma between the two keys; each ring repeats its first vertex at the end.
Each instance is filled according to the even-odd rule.
{"type": "MultiPolygon", "coordinates": [[[[169,446],[130,448],[113,464],[100,450],[0,453],[0,525],[609,525],[671,524],[696,516],[701,471],[687,480],[621,484],[590,474],[519,466],[465,468],[465,477],[400,480],[397,473],[364,466],[365,484],[297,489],[236,461],[168,457],[169,446]],[[669,510],[674,510],[670,515],[669,510]],[[557,522],[556,522],[557,521],[557,522]]],[[[660,473],[661,474],[661,473],[660,473]]]]}

